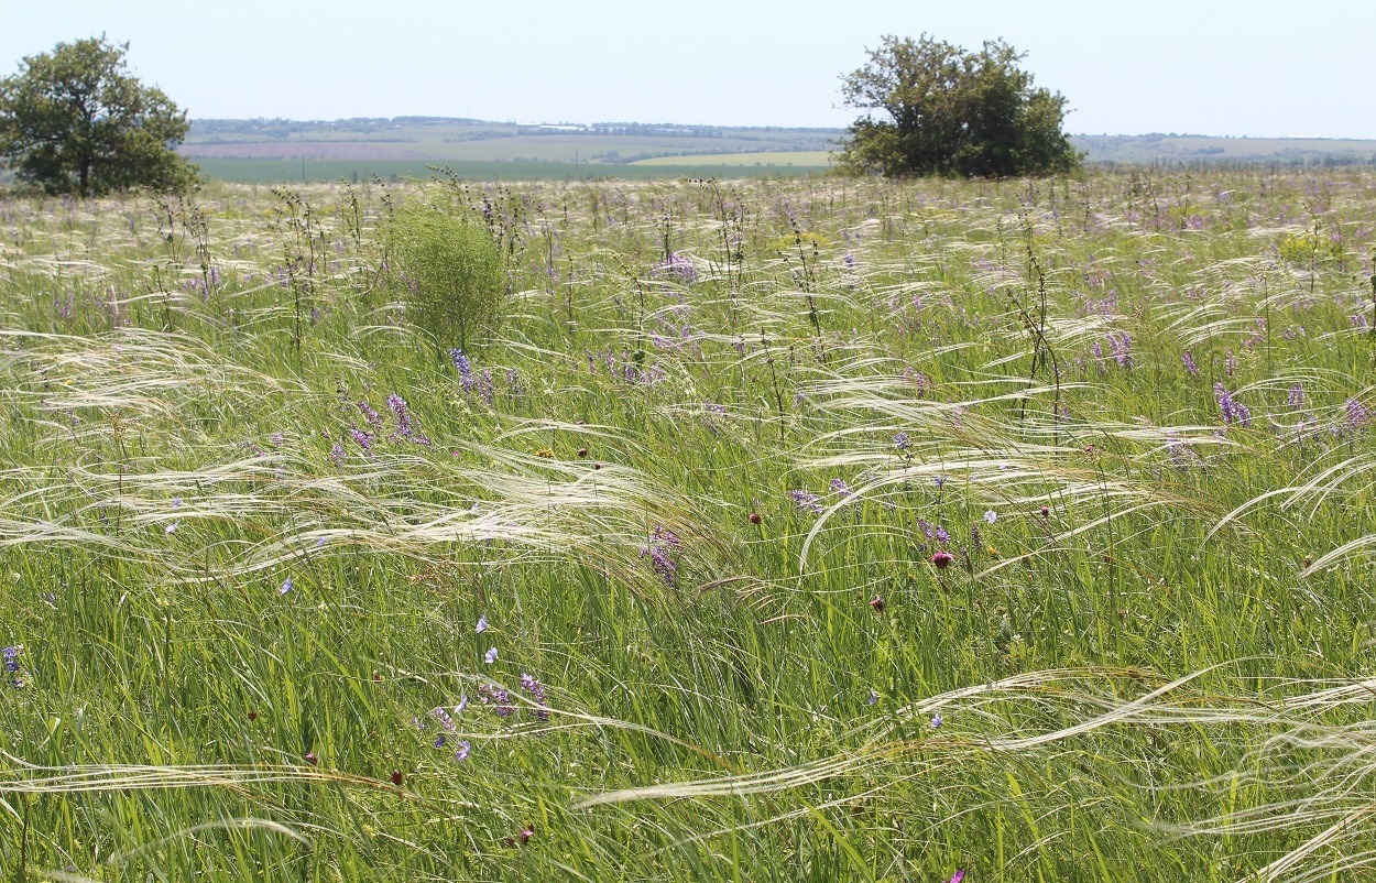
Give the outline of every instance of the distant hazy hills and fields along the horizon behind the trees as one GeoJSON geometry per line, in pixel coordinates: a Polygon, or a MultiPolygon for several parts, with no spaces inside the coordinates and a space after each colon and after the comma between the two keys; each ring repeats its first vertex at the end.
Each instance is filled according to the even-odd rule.
{"type": "MultiPolygon", "coordinates": [[[[676,177],[813,175],[843,140],[835,128],[676,122],[494,122],[462,117],[194,120],[180,153],[212,177],[244,182],[424,177],[676,177]]],[[[1075,135],[1093,165],[1376,165],[1376,140],[1075,135]]]]}

